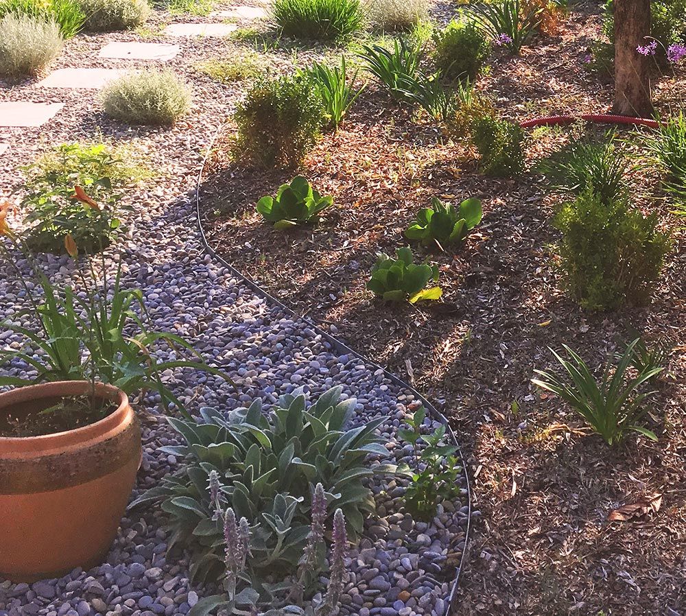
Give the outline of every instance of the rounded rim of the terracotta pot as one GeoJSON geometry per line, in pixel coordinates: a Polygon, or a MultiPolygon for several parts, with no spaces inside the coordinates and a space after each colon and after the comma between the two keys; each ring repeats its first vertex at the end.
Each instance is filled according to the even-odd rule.
{"type": "MultiPolygon", "coordinates": [[[[8,392],[0,393],[0,412],[12,405],[43,398],[56,396],[80,396],[91,390],[91,381],[52,381],[18,387],[8,392]]],[[[113,403],[118,403],[117,408],[108,416],[97,420],[95,423],[54,432],[40,436],[0,436],[0,445],[3,454],[12,453],[47,453],[52,449],[69,446],[80,446],[85,441],[94,440],[108,434],[121,424],[126,414],[133,412],[129,399],[125,392],[113,385],[107,385],[96,381],[95,392],[103,394],[113,403]]]]}

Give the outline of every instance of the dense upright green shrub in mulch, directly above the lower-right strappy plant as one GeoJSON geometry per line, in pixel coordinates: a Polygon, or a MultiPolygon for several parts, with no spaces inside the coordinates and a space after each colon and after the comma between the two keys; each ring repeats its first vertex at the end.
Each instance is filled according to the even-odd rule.
{"type": "Polygon", "coordinates": [[[554,224],[563,234],[563,283],[582,307],[606,310],[648,301],[671,248],[655,214],[644,217],[626,198],[606,202],[587,190],[563,204],[554,224]]]}

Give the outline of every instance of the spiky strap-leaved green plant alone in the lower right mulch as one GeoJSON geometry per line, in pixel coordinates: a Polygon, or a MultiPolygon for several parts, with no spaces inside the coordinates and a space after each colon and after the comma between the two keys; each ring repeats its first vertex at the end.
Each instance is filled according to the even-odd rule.
{"type": "Polygon", "coordinates": [[[586,362],[566,344],[563,348],[569,359],[550,349],[564,369],[563,376],[534,370],[541,378],[532,379],[532,383],[553,392],[569,404],[608,445],[615,445],[629,431],[657,440],[652,431],[638,425],[647,412],[643,402],[654,392],[639,392],[639,389],[663,368],[643,366],[635,377],[628,375],[638,342],[634,340],[626,347],[614,368],[608,361],[599,380],[593,376],[586,362]]]}

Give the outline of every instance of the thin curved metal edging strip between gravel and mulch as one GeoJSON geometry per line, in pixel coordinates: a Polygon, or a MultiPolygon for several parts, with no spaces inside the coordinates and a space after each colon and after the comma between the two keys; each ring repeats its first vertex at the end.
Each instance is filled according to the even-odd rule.
{"type": "Polygon", "coordinates": [[[321,335],[329,344],[331,344],[331,347],[335,350],[338,351],[339,353],[343,355],[353,355],[353,357],[357,357],[357,359],[361,359],[362,362],[365,364],[368,364],[368,366],[372,366],[375,370],[383,370],[383,375],[389,379],[394,385],[396,385],[399,388],[402,388],[404,390],[407,390],[412,393],[415,398],[420,401],[429,414],[431,416],[434,416],[438,418],[440,423],[445,425],[447,434],[449,435],[450,440],[453,441],[454,445],[458,448],[458,453],[460,454],[460,462],[462,463],[462,472],[464,473],[464,479],[466,481],[466,490],[467,490],[467,525],[466,525],[466,530],[464,531],[464,547],[462,548],[462,556],[460,556],[460,565],[458,566],[458,571],[456,574],[456,578],[453,581],[453,585],[450,591],[450,595],[448,597],[448,611],[447,613],[450,613],[454,607],[455,600],[456,600],[456,595],[458,591],[458,586],[460,584],[460,575],[462,573],[462,567],[464,566],[464,560],[466,558],[466,552],[467,552],[467,543],[469,542],[469,531],[471,530],[471,514],[472,514],[472,508],[471,508],[471,486],[469,484],[469,474],[467,473],[467,466],[466,466],[466,461],[464,460],[464,455],[462,455],[462,449],[460,449],[460,444],[458,443],[458,440],[455,436],[455,433],[453,432],[453,429],[450,427],[450,424],[448,423],[447,418],[445,417],[444,414],[442,414],[436,407],[434,407],[431,402],[429,402],[420,392],[418,392],[414,387],[410,386],[408,383],[405,383],[402,379],[397,377],[396,375],[392,374],[392,372],[389,372],[386,370],[386,368],[383,368],[383,366],[379,366],[376,362],[372,362],[370,359],[367,357],[364,357],[364,355],[360,354],[359,352],[355,351],[355,349],[350,348],[347,344],[344,342],[341,342],[338,340],[338,338],[333,337],[329,332],[324,331],[318,324],[312,322],[308,318],[304,316],[299,316],[296,314],[291,308],[289,308],[287,305],[281,302],[281,300],[273,297],[270,295],[268,292],[266,292],[262,287],[260,287],[255,281],[252,279],[248,278],[243,272],[240,272],[237,270],[233,265],[228,263],[224,257],[222,257],[221,254],[217,254],[217,252],[210,246],[209,241],[207,241],[207,236],[205,235],[204,228],[202,228],[202,217],[200,215],[200,185],[202,183],[202,176],[204,174],[204,170],[207,164],[207,160],[213,150],[214,143],[219,136],[220,132],[222,131],[222,128],[224,128],[224,124],[220,125],[219,128],[215,131],[215,134],[213,135],[212,139],[209,141],[207,147],[206,147],[206,153],[204,157],[202,158],[202,163],[200,164],[200,171],[198,173],[198,181],[196,182],[196,194],[195,194],[195,199],[196,199],[196,218],[198,221],[198,230],[200,231],[200,239],[202,241],[202,246],[204,247],[204,250],[211,255],[214,259],[219,261],[225,268],[230,270],[230,272],[237,277],[237,279],[243,281],[243,283],[252,290],[252,292],[255,292],[255,294],[262,296],[265,298],[269,303],[272,305],[278,306],[281,310],[283,310],[285,313],[288,315],[292,316],[294,319],[303,321],[307,324],[308,327],[311,327],[311,329],[314,329],[316,333],[321,335]]]}

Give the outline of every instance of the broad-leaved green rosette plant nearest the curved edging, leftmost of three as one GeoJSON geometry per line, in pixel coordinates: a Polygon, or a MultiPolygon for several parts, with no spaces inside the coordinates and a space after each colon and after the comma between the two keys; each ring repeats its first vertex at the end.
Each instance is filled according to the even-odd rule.
{"type": "Polygon", "coordinates": [[[317,222],[319,215],[333,204],[333,197],[322,197],[303,176],[279,187],[276,197],[263,197],[257,211],[274,228],[289,229],[298,224],[317,222]]]}

